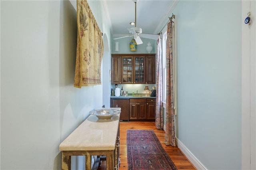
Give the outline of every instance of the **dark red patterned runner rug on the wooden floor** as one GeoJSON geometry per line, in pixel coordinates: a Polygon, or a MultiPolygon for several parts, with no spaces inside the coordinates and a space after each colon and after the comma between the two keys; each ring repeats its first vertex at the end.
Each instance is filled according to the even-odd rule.
{"type": "Polygon", "coordinates": [[[127,130],[128,170],[177,170],[154,130],[127,130]]]}

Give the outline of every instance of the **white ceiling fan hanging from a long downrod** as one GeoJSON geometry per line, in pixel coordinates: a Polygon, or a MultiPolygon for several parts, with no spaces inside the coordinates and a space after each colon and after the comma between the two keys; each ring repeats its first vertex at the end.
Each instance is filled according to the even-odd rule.
{"type": "Polygon", "coordinates": [[[156,34],[142,34],[142,29],[139,27],[136,27],[136,4],[139,0],[132,0],[135,4],[135,27],[132,28],[127,28],[127,30],[129,30],[129,33],[132,35],[129,36],[124,36],[124,37],[119,37],[119,38],[114,38],[114,40],[120,39],[120,38],[126,38],[126,37],[132,37],[134,38],[134,40],[136,41],[137,44],[142,44],[142,40],[140,39],[140,37],[142,38],[148,38],[148,39],[153,39],[153,40],[158,40],[159,35],[156,34]]]}

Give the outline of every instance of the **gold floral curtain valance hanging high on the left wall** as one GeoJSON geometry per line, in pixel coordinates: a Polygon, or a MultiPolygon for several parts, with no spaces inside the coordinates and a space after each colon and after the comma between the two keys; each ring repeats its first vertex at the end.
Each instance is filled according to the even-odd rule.
{"type": "Polygon", "coordinates": [[[86,0],[77,0],[77,47],[74,87],[99,85],[102,32],[86,0]]]}

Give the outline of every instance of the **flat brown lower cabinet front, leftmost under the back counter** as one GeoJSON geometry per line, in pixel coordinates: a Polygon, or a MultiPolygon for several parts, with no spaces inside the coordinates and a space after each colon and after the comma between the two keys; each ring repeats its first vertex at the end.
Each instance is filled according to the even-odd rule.
{"type": "Polygon", "coordinates": [[[110,107],[120,107],[120,121],[129,121],[129,103],[130,99],[118,99],[111,98],[110,99],[110,107]]]}

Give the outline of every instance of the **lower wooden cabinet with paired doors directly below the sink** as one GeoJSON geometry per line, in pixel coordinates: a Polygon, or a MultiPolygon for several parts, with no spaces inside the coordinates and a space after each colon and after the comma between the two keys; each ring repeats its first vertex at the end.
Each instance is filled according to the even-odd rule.
{"type": "Polygon", "coordinates": [[[130,120],[147,119],[146,99],[130,99],[130,120]]]}

